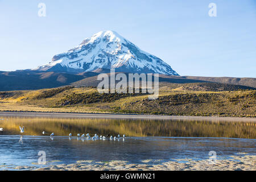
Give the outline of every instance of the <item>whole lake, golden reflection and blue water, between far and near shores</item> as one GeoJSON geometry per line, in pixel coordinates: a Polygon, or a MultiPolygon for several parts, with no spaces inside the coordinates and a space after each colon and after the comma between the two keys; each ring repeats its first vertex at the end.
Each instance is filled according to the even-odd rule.
{"type": "Polygon", "coordinates": [[[108,162],[125,160],[218,159],[230,155],[255,155],[254,122],[185,121],[143,119],[68,119],[43,117],[0,118],[0,169],[7,166],[38,166],[38,152],[46,152],[47,164],[71,164],[77,160],[108,162]],[[21,134],[19,126],[24,126],[21,134]],[[46,131],[43,135],[42,131],[46,131]],[[49,134],[55,133],[55,137],[49,134]],[[72,133],[74,137],[68,137],[72,133]],[[76,137],[126,135],[119,139],[76,137]],[[2,167],[1,167],[2,165],[2,167]]]}

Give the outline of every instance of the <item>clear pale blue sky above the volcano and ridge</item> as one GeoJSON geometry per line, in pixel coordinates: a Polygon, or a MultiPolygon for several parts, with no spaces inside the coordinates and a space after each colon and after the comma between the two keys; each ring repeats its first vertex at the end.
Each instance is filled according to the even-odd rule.
{"type": "Polygon", "coordinates": [[[36,68],[113,30],[183,76],[256,77],[255,0],[0,0],[0,23],[1,71],[36,68]]]}

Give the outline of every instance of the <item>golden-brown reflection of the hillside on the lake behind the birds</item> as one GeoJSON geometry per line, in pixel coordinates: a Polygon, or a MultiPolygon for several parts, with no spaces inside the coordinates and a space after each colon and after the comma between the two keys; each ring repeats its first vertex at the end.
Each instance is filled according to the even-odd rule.
{"type": "Polygon", "coordinates": [[[32,136],[43,135],[44,131],[44,135],[54,132],[56,136],[67,137],[69,133],[97,133],[113,137],[126,134],[130,137],[256,138],[254,122],[24,117],[2,118],[0,135],[20,135],[19,126],[25,128],[23,135],[32,136]]]}

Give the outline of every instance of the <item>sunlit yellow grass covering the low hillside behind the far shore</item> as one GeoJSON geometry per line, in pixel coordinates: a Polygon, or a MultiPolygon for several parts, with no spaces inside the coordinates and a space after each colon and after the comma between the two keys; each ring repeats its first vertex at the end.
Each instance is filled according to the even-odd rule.
{"type": "MultiPolygon", "coordinates": [[[[168,115],[221,115],[231,117],[256,117],[255,90],[232,92],[184,91],[163,86],[158,100],[148,100],[148,95],[122,97],[108,102],[57,106],[72,94],[97,93],[96,88],[71,88],[51,97],[38,99],[40,94],[52,89],[22,91],[1,98],[0,111],[51,111],[68,113],[138,113],[168,115]],[[177,99],[175,99],[177,97],[177,99]],[[195,100],[198,101],[195,102],[195,100]]],[[[87,102],[86,102],[87,103],[87,102]]]]}

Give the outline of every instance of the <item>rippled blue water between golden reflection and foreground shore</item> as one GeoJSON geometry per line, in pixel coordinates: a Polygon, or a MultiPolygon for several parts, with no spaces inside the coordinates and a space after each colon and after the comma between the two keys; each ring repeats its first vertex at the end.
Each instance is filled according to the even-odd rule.
{"type": "MultiPolygon", "coordinates": [[[[0,136],[0,165],[37,166],[38,152],[45,151],[47,165],[72,164],[78,160],[109,162],[125,160],[209,159],[216,151],[218,159],[246,153],[255,155],[255,139],[127,137],[117,140],[88,140],[81,137],[0,136]]],[[[1,169],[1,167],[0,167],[1,169]]]]}

